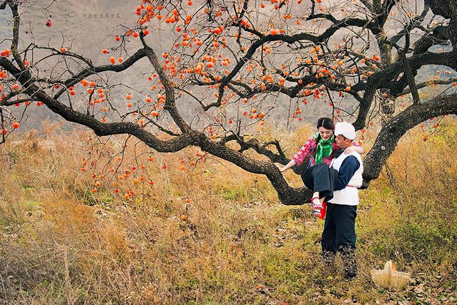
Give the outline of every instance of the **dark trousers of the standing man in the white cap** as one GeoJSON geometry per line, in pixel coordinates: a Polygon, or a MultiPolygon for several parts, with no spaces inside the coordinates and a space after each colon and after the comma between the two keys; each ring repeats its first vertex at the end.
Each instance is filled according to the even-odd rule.
{"type": "Polygon", "coordinates": [[[322,254],[325,261],[331,262],[340,252],[345,277],[357,275],[355,259],[355,218],[356,205],[328,203],[325,224],[322,232],[322,254]]]}

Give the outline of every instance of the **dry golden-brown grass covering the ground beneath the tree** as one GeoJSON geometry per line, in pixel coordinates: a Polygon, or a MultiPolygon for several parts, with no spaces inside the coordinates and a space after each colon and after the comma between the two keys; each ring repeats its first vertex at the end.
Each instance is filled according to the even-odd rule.
{"type": "MultiPolygon", "coordinates": [[[[46,134],[29,133],[2,148],[3,304],[455,301],[456,124],[451,119],[427,142],[419,130],[406,135],[388,160],[388,173],[361,191],[360,272],[350,283],[341,281],[341,270],[319,263],[323,222],[312,218],[307,205],[279,204],[265,177],[214,157],[189,166],[195,148],[154,154],[154,161],[144,162],[147,150],[131,140],[119,173],[145,164],[132,174],[145,181],[133,184],[129,177],[115,195],[111,184],[119,173],[107,171],[116,150],[110,141],[97,146],[103,149],[100,159],[94,157],[100,152],[92,151],[91,160],[98,161],[91,173],[108,175],[91,193],[91,173],[80,171],[89,156],[89,134],[59,129],[46,125],[46,134]],[[180,159],[185,171],[179,170],[180,159]],[[129,189],[135,195],[125,200],[129,189]],[[370,281],[370,269],[388,259],[413,274],[406,290],[383,290],[370,281]]],[[[289,154],[311,130],[283,136],[297,143],[289,154]]],[[[293,173],[286,177],[301,184],[293,173]]]]}

